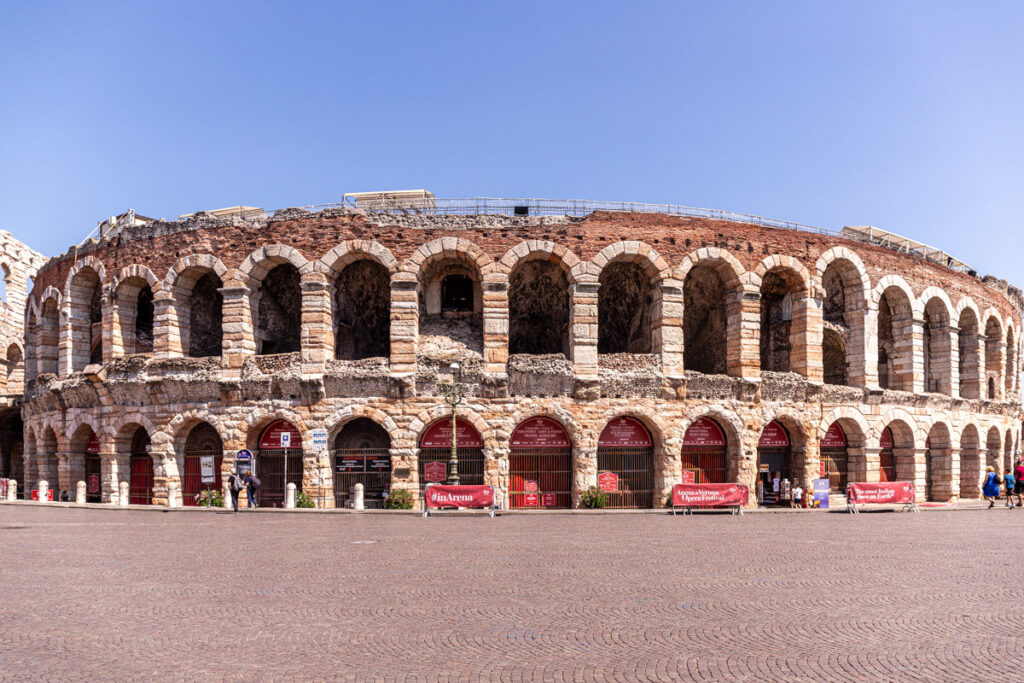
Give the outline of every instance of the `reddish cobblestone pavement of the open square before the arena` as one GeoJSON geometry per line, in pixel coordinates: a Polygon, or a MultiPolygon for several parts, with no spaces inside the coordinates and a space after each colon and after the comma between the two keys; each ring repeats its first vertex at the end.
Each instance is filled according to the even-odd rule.
{"type": "Polygon", "coordinates": [[[0,506],[0,679],[1020,680],[1022,537],[1005,509],[0,506]]]}

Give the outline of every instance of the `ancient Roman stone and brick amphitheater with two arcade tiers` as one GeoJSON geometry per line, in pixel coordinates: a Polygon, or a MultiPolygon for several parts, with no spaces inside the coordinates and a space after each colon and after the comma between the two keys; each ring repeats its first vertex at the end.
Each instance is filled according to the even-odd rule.
{"type": "Polygon", "coordinates": [[[453,382],[461,480],[506,508],[577,507],[602,472],[611,507],[691,475],[949,502],[1020,451],[1021,292],[873,230],[431,200],[132,216],[33,258],[3,340],[23,492],[191,505],[202,456],[225,477],[248,451],[263,506],[379,505],[447,463],[453,382]]]}

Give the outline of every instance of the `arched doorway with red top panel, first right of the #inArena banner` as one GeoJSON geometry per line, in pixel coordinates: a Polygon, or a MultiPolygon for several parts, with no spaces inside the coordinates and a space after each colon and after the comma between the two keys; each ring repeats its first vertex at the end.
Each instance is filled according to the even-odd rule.
{"type": "Polygon", "coordinates": [[[572,441],[551,418],[522,422],[509,439],[509,507],[572,506],[572,441]]]}

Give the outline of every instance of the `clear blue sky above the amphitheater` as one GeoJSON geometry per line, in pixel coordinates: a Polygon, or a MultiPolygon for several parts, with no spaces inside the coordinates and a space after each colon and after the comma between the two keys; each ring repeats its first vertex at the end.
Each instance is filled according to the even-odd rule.
{"type": "Polygon", "coordinates": [[[0,228],[438,197],[871,224],[1024,285],[1021,2],[0,0],[0,228]]]}

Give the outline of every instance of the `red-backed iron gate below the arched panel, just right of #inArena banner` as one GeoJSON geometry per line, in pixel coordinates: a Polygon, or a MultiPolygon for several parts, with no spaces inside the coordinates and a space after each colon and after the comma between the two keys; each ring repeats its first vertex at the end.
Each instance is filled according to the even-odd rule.
{"type": "Polygon", "coordinates": [[[572,450],[512,449],[509,507],[572,507],[572,450]]]}

